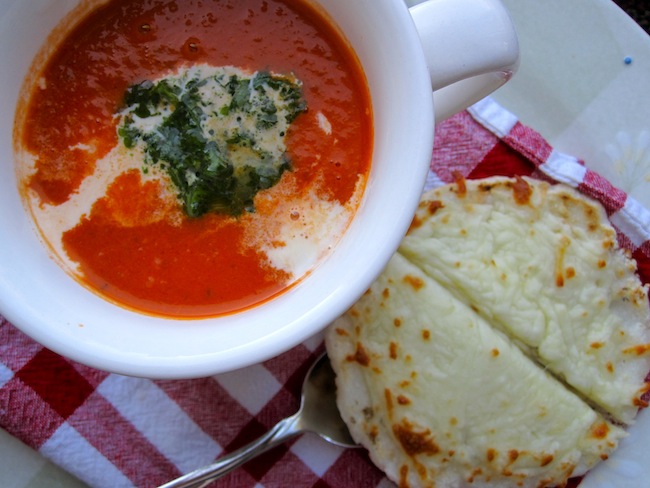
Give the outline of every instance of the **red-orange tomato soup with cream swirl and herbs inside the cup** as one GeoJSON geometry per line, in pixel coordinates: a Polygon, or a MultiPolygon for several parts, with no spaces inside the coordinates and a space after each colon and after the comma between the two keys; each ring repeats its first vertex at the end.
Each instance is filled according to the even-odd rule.
{"type": "Polygon", "coordinates": [[[356,55],[317,8],[111,0],[50,44],[18,108],[17,173],[85,286],[146,314],[218,316],[282,293],[335,247],[365,190],[372,109],[356,55]],[[196,113],[221,125],[192,125],[196,113]],[[182,152],[197,140],[199,169],[182,152]],[[226,196],[197,203],[213,186],[226,196]]]}

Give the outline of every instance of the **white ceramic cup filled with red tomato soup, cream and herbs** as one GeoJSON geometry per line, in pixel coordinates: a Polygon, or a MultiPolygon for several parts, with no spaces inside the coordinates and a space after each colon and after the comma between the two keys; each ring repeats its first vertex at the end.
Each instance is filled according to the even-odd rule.
{"type": "MultiPolygon", "coordinates": [[[[308,339],[383,269],[433,142],[401,2],[1,5],[0,311],[28,335],[117,373],[206,376],[308,339]]],[[[478,87],[458,109],[514,69],[494,5],[507,59],[445,68],[478,87]]]]}

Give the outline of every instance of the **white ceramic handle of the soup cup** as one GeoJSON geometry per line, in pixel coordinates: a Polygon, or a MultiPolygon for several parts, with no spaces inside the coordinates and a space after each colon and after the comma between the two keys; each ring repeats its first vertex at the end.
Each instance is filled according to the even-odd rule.
{"type": "Polygon", "coordinates": [[[436,123],[489,95],[517,70],[517,34],[499,0],[429,0],[410,12],[431,75],[436,123]]]}

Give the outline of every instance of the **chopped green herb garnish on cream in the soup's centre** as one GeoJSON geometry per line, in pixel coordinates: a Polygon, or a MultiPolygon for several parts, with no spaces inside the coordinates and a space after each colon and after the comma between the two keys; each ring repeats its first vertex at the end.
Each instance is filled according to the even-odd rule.
{"type": "Polygon", "coordinates": [[[201,69],[131,86],[118,135],[141,147],[143,171],[157,165],[185,213],[240,215],[291,169],[284,135],[306,110],[300,84],[258,72],[251,78],[201,69]]]}

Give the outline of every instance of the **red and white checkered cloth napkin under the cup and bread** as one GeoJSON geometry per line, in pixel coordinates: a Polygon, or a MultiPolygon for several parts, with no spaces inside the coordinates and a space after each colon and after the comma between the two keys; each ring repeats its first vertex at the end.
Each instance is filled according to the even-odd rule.
{"type": "MultiPolygon", "coordinates": [[[[490,99],[437,128],[429,186],[489,175],[562,181],[602,201],[620,242],[650,278],[650,213],[560,154],[490,99]]],[[[314,337],[233,373],[151,381],[98,371],[39,346],[0,317],[0,426],[92,486],[149,487],[253,440],[299,403],[303,376],[322,350],[314,337]]],[[[219,486],[389,486],[361,449],[308,434],[273,449],[219,486]]]]}

